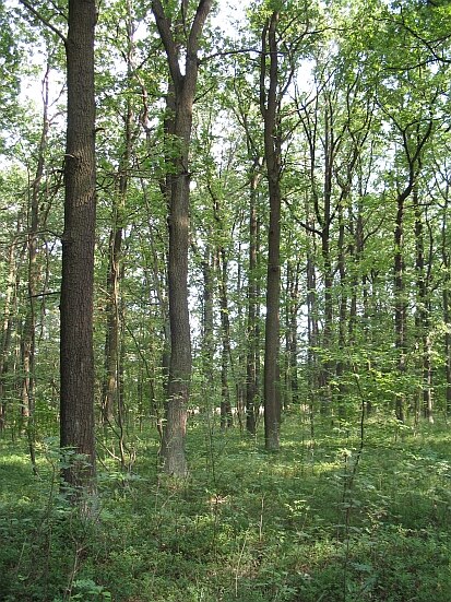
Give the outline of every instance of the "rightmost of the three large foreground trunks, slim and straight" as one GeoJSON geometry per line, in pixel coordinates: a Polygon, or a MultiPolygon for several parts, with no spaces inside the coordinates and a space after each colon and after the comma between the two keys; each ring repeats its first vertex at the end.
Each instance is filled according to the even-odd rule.
{"type": "Polygon", "coordinates": [[[268,450],[280,448],[280,297],[281,297],[281,133],[277,123],[278,60],[276,26],[278,12],[266,21],[262,34],[260,106],[264,121],[264,152],[270,196],[268,232],[266,319],[264,337],[264,440],[268,450]],[[269,88],[265,90],[266,58],[270,57],[269,88]]]}

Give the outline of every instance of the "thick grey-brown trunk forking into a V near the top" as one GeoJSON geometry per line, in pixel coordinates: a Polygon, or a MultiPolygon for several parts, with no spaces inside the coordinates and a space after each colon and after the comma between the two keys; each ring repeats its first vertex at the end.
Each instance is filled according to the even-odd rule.
{"type": "MultiPolygon", "coordinates": [[[[188,248],[189,248],[189,147],[192,128],[192,105],[198,82],[198,51],[203,25],[213,0],[200,0],[186,46],[185,74],[179,62],[180,44],[177,28],[159,0],[152,1],[152,11],[162,38],[174,84],[174,135],[180,145],[174,157],[169,176],[169,253],[168,292],[170,322],[169,382],[166,403],[166,423],[163,432],[162,459],[165,472],[185,476],[186,428],[191,380],[191,334],[188,308],[188,248]]],[[[181,24],[188,2],[181,4],[181,24]]],[[[169,166],[168,166],[169,167],[169,166]]]]}

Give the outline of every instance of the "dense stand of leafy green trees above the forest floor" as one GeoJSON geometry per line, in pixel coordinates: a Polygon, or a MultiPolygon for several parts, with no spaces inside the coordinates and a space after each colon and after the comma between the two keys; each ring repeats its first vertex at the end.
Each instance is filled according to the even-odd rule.
{"type": "Polygon", "coordinates": [[[59,423],[78,484],[95,428],[127,465],[154,425],[183,475],[190,412],[254,435],[263,408],[270,450],[288,406],[451,413],[448,2],[234,24],[3,0],[0,23],[0,429],[32,459],[59,423]]]}

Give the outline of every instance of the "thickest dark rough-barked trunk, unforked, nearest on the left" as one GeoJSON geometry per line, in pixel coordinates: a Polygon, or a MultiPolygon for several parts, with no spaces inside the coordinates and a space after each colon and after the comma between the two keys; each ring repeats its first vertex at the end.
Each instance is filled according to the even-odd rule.
{"type": "Polygon", "coordinates": [[[96,217],[94,0],[69,0],[66,39],[68,130],[62,235],[60,441],[85,461],[63,468],[66,483],[95,492],[93,293],[96,217]]]}

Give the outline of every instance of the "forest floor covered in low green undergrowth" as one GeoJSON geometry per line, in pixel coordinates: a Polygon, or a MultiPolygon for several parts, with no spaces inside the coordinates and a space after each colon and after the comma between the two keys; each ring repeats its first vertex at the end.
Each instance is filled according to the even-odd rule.
{"type": "Polygon", "coordinates": [[[370,417],[360,450],[358,416],[312,429],[293,411],[282,439],[268,453],[260,432],[195,416],[180,482],[158,475],[154,432],[133,433],[130,470],[105,455],[84,519],[58,492],[55,440],[36,476],[4,434],[0,600],[450,602],[451,426],[370,417]]]}

